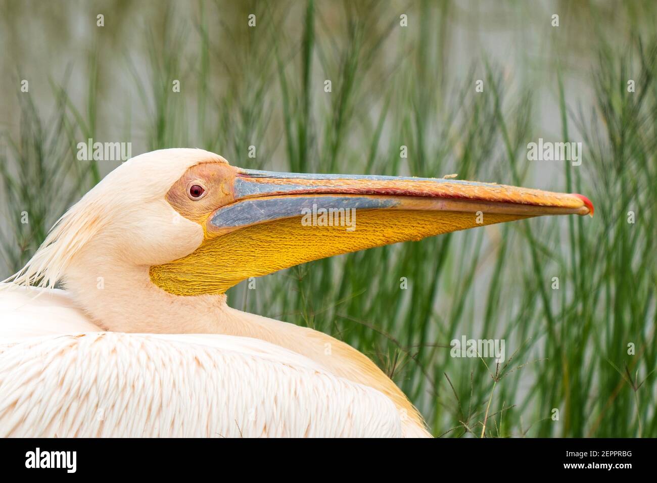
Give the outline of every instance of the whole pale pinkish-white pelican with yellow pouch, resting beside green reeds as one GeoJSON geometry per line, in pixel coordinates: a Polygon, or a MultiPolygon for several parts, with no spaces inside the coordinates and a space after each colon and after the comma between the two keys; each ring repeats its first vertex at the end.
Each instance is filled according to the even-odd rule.
{"type": "Polygon", "coordinates": [[[0,436],[430,436],[368,357],[235,310],[226,290],[319,258],[558,214],[593,205],[456,179],[247,170],[200,149],[141,154],[0,286],[0,436]],[[357,216],[353,229],[304,223],[310,210],[357,216]]]}

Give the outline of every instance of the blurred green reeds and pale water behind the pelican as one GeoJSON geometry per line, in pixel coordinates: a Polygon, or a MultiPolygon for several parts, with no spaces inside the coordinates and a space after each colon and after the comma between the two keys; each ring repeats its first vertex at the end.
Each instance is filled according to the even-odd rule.
{"type": "Polygon", "coordinates": [[[457,173],[583,193],[595,218],[319,260],[242,283],[229,304],[361,350],[435,436],[481,436],[486,414],[488,437],[657,436],[657,3],[0,0],[0,10],[1,278],[120,164],[79,161],[89,138],[132,143],[133,156],[198,147],[243,168],[457,173]],[[528,160],[539,138],[581,142],[581,165],[528,160]],[[462,335],[504,339],[505,362],[451,357],[462,335]]]}

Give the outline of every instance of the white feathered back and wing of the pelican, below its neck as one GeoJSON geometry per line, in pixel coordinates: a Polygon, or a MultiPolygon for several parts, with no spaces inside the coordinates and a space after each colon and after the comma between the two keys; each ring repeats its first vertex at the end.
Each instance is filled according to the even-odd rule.
{"type": "Polygon", "coordinates": [[[0,436],[401,435],[389,398],[280,346],[93,331],[36,290],[0,291],[0,436]]]}

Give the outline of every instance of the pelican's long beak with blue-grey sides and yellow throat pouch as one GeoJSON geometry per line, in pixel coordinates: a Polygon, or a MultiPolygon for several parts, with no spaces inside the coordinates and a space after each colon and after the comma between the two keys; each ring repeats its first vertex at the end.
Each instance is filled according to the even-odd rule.
{"type": "Polygon", "coordinates": [[[196,251],[151,267],[154,283],[180,295],[223,293],[248,277],[374,246],[533,216],[593,214],[582,195],[491,183],[238,168],[231,199],[208,216],[196,251]]]}

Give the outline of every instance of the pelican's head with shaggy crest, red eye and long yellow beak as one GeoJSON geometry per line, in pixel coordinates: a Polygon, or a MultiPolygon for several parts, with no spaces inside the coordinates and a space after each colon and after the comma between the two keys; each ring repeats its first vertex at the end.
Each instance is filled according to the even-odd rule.
{"type": "Polygon", "coordinates": [[[143,283],[175,296],[223,294],[319,258],[558,214],[593,214],[593,205],[456,179],[246,170],[205,150],[164,149],[125,162],[83,196],[14,281],[66,283],[83,258],[86,272],[108,260],[139,267],[143,283]]]}

